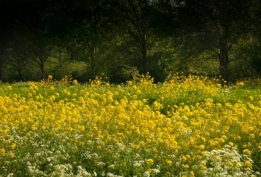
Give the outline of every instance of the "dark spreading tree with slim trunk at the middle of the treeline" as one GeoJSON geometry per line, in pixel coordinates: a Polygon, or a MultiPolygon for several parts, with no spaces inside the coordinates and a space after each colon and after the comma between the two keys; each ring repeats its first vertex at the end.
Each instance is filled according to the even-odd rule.
{"type": "Polygon", "coordinates": [[[117,15],[119,31],[128,34],[135,41],[139,51],[142,72],[149,71],[149,51],[153,45],[153,30],[150,28],[152,3],[149,0],[117,0],[111,4],[117,15]]]}

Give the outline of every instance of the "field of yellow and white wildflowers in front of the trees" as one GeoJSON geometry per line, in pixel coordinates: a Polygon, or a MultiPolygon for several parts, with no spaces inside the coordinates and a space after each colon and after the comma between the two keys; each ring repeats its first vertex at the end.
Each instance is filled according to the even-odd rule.
{"type": "Polygon", "coordinates": [[[0,176],[260,176],[261,89],[148,75],[0,84],[0,176]]]}

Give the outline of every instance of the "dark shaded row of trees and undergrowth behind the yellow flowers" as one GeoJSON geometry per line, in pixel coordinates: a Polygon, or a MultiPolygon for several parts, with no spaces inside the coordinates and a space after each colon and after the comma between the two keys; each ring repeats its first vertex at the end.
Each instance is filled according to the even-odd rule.
{"type": "Polygon", "coordinates": [[[0,80],[261,71],[258,0],[1,0],[0,80]]]}

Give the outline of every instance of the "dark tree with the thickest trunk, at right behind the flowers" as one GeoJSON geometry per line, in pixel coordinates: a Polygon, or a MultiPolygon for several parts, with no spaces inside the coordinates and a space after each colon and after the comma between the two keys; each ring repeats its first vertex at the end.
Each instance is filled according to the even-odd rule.
{"type": "Polygon", "coordinates": [[[229,64],[237,59],[231,55],[231,49],[248,33],[250,3],[245,0],[185,1],[184,8],[194,10],[201,20],[199,25],[204,25],[200,31],[203,45],[218,57],[220,75],[227,82],[230,80],[229,64]]]}

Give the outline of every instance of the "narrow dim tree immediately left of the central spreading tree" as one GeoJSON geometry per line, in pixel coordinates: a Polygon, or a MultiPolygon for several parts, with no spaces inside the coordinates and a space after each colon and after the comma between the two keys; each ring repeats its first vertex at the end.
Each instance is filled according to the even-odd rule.
{"type": "Polygon", "coordinates": [[[76,45],[73,50],[87,63],[90,74],[96,76],[100,74],[103,63],[106,63],[101,60],[105,50],[108,50],[105,46],[110,34],[107,1],[86,1],[81,8],[84,9],[80,16],[81,21],[75,29],[77,36],[74,37],[76,43],[73,44],[76,45]]]}

